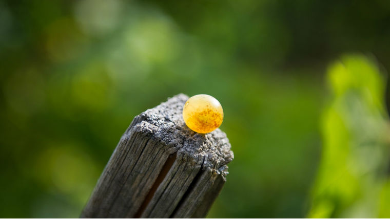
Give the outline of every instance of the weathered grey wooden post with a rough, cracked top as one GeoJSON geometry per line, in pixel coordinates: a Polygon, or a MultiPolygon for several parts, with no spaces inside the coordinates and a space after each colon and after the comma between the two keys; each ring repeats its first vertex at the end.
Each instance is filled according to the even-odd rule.
{"type": "Polygon", "coordinates": [[[81,217],[205,217],[233,159],[225,133],[192,132],[179,94],[136,116],[81,217]]]}

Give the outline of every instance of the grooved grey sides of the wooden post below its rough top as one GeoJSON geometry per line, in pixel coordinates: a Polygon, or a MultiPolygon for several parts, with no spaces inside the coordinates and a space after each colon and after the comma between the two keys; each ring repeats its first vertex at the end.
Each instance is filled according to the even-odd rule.
{"type": "Polygon", "coordinates": [[[81,217],[204,217],[218,196],[232,152],[212,163],[167,144],[145,129],[144,113],[121,137],[81,217]]]}

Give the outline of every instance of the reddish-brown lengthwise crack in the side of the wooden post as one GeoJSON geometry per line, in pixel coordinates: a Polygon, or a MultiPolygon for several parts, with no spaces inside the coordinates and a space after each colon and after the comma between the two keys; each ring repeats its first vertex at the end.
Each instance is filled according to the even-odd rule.
{"type": "Polygon", "coordinates": [[[148,206],[149,202],[152,200],[155,191],[159,188],[160,184],[164,181],[166,175],[168,174],[170,168],[172,167],[174,161],[176,160],[176,157],[177,157],[176,153],[168,157],[167,161],[163,165],[163,168],[161,169],[161,172],[159,173],[159,176],[157,177],[157,179],[155,179],[152,187],[150,188],[150,191],[146,195],[145,200],[141,204],[138,211],[134,214],[134,218],[141,217],[141,214],[146,209],[146,206],[148,206]]]}

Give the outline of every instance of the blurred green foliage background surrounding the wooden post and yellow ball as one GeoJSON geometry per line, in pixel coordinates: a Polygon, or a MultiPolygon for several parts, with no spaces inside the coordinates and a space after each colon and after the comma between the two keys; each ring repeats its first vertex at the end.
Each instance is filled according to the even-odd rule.
{"type": "Polygon", "coordinates": [[[0,217],[78,217],[132,118],[209,94],[208,217],[390,217],[390,2],[1,1],[0,217]]]}

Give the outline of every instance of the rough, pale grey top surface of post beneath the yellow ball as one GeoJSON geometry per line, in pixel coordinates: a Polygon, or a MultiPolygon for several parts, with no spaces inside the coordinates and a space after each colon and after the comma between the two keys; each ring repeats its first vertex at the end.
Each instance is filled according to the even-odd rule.
{"type": "Polygon", "coordinates": [[[184,123],[182,111],[188,96],[178,94],[134,118],[128,131],[148,135],[151,139],[175,148],[191,158],[203,158],[202,168],[222,176],[226,164],[233,160],[233,152],[226,134],[217,128],[208,134],[193,132],[184,123]]]}

